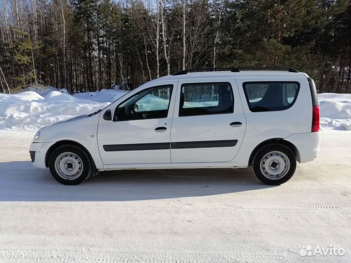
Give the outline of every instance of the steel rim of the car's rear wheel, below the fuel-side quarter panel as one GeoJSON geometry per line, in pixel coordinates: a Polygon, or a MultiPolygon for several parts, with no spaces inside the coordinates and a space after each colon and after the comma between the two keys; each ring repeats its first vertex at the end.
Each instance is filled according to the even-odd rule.
{"type": "Polygon", "coordinates": [[[278,180],[289,172],[290,160],[281,151],[271,151],[261,159],[260,169],[268,179],[278,180]]]}

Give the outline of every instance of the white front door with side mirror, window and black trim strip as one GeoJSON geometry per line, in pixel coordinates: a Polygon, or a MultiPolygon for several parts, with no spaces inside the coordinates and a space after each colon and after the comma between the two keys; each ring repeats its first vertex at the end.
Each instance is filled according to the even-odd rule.
{"type": "Polygon", "coordinates": [[[176,81],[143,89],[100,114],[98,149],[104,165],[170,163],[176,81]]]}

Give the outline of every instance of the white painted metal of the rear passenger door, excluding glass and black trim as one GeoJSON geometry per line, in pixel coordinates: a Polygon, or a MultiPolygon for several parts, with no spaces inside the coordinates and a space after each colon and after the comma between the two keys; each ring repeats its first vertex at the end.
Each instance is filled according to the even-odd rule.
{"type": "MultiPolygon", "coordinates": [[[[244,137],[246,120],[241,100],[233,77],[223,79],[186,78],[178,82],[176,105],[172,123],[172,142],[238,140],[234,147],[171,149],[172,163],[228,162],[234,159],[244,137]],[[179,117],[180,87],[185,83],[229,82],[234,94],[234,113],[195,115],[179,117]],[[231,127],[232,122],[241,122],[239,127],[231,127]]],[[[180,164],[181,165],[181,164],[180,164]]]]}

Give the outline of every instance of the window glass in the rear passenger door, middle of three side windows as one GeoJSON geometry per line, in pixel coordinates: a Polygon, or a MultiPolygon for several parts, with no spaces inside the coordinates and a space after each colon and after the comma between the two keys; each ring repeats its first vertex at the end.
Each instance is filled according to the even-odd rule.
{"type": "Polygon", "coordinates": [[[179,116],[233,113],[234,97],[229,83],[183,84],[179,116]]]}

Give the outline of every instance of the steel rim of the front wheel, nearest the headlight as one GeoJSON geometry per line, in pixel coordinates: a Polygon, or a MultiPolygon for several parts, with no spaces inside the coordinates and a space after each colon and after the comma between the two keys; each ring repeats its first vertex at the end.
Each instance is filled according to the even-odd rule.
{"type": "Polygon", "coordinates": [[[61,153],[55,160],[55,170],[65,180],[77,179],[83,171],[83,162],[73,152],[61,153]]]}

